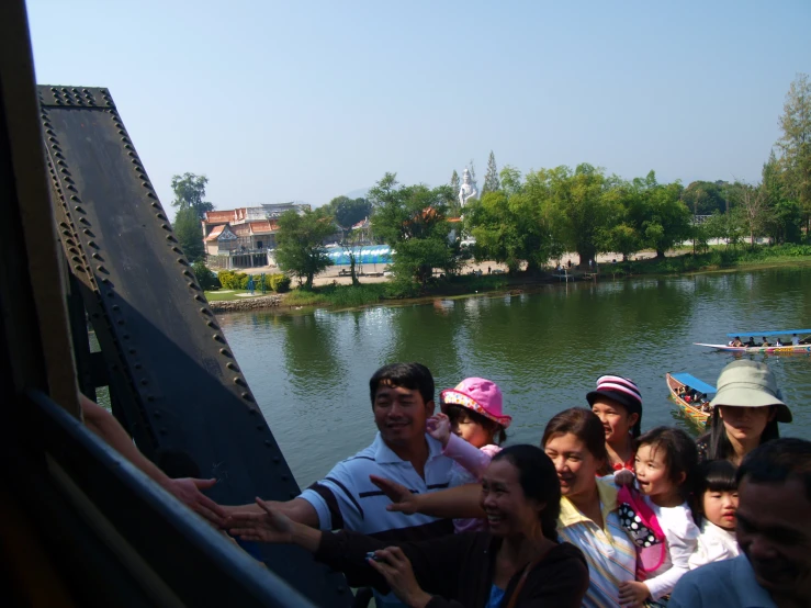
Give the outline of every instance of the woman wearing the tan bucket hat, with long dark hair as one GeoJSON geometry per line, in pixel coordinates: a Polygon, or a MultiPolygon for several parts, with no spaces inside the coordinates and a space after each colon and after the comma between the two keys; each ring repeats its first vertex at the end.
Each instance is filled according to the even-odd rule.
{"type": "Polygon", "coordinates": [[[790,423],[775,374],[765,363],[733,361],[718,376],[718,392],[710,403],[711,429],[698,440],[700,461],[729,460],[741,464],[761,443],[777,439],[777,423],[790,423]]]}

